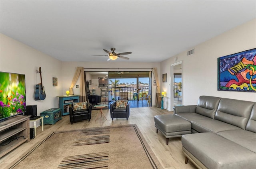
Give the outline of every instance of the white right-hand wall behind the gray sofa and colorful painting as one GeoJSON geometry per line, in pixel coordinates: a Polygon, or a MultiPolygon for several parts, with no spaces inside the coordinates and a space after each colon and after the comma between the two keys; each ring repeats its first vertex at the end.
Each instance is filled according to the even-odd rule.
{"type": "MultiPolygon", "coordinates": [[[[256,19],[218,35],[194,47],[194,55],[187,51],[161,62],[161,76],[167,73],[167,83],[161,83],[161,91],[167,90],[164,105],[172,110],[170,97],[170,65],[183,61],[183,104],[194,105],[200,95],[218,96],[256,102],[255,92],[231,92],[217,90],[217,58],[256,47],[256,19]],[[177,57],[177,60],[174,61],[177,57]]],[[[188,49],[190,50],[190,49],[188,49]]],[[[162,81],[162,80],[161,80],[162,81]]],[[[172,95],[170,95],[172,94],[172,95]]]]}

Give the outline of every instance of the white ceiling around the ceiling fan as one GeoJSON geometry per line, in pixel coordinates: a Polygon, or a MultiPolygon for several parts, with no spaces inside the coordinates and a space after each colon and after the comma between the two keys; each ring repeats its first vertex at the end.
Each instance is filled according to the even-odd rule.
{"type": "Polygon", "coordinates": [[[256,18],[250,0],[0,1],[0,31],[60,61],[158,62],[256,18]],[[126,61],[118,58],[116,61],[126,61]]]}

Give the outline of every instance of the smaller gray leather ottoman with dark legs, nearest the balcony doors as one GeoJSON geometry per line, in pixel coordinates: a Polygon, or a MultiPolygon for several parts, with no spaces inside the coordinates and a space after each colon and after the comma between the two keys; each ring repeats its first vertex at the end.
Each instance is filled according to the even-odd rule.
{"type": "Polygon", "coordinates": [[[181,137],[184,134],[191,133],[191,123],[174,114],[162,114],[154,116],[156,133],[158,130],[164,134],[166,144],[169,138],[181,137]]]}

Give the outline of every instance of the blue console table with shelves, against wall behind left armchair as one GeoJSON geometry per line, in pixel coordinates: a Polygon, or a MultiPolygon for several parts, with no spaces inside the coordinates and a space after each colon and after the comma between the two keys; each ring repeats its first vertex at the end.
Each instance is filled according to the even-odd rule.
{"type": "Polygon", "coordinates": [[[69,114],[69,105],[73,102],[79,102],[79,95],[64,95],[64,96],[57,96],[60,98],[59,100],[59,108],[61,109],[61,115],[68,115],[69,114]]]}

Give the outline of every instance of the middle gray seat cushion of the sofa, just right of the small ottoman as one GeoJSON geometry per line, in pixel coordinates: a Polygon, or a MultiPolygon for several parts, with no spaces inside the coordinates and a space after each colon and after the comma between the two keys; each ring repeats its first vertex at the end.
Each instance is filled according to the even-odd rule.
{"type": "Polygon", "coordinates": [[[199,133],[212,132],[217,133],[226,130],[242,130],[239,127],[233,126],[214,119],[197,119],[191,121],[192,128],[199,133]]]}

